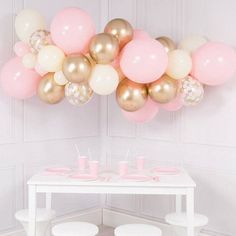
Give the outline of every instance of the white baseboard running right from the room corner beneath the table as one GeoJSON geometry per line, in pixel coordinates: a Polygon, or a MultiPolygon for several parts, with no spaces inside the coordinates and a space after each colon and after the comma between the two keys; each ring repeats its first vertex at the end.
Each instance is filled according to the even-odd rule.
{"type": "MultiPolygon", "coordinates": [[[[122,224],[132,224],[132,223],[155,225],[162,230],[163,236],[175,236],[171,226],[168,224],[164,224],[153,220],[148,220],[137,216],[128,215],[110,209],[103,209],[104,225],[115,228],[122,224]]],[[[210,235],[202,233],[199,236],[210,236],[210,235]]]]}

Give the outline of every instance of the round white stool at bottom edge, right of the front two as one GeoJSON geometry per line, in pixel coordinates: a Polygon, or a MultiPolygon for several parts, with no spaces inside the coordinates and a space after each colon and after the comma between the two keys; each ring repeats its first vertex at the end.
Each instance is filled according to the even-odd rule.
{"type": "Polygon", "coordinates": [[[115,236],[161,236],[161,230],[153,225],[127,224],[115,229],[115,236]]]}

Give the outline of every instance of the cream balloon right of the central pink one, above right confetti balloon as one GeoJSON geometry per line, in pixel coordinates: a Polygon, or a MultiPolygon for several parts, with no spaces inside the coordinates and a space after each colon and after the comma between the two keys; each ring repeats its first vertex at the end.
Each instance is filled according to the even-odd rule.
{"type": "Polygon", "coordinates": [[[192,69],[192,59],[188,52],[176,49],[168,53],[168,67],[166,74],[173,79],[183,79],[192,69]]]}

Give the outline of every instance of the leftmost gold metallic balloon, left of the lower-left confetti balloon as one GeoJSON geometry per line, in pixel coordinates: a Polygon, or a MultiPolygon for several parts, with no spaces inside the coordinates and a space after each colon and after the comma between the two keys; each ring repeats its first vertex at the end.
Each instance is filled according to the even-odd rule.
{"type": "Polygon", "coordinates": [[[48,73],[41,79],[38,96],[42,101],[49,104],[58,103],[64,98],[64,93],[64,86],[54,81],[54,73],[48,73]]]}

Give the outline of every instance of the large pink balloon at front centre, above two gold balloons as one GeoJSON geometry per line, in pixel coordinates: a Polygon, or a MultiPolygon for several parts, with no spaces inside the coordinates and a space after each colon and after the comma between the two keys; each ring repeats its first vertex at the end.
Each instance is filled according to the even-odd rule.
{"type": "Polygon", "coordinates": [[[168,64],[164,47],[151,38],[135,39],[122,50],[120,66],[134,82],[150,83],[160,78],[168,64]]]}

